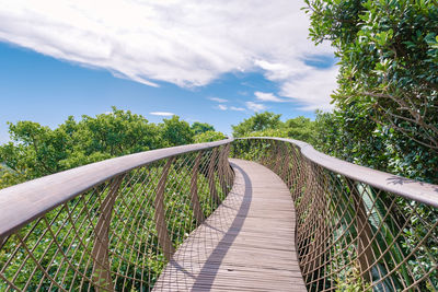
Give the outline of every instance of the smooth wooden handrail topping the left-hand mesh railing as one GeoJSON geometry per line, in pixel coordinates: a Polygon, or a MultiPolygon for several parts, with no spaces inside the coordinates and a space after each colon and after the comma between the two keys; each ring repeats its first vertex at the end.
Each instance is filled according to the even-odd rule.
{"type": "Polygon", "coordinates": [[[151,150],[110,159],[0,190],[0,238],[88,189],[152,162],[228,144],[234,139],[151,150]]]}

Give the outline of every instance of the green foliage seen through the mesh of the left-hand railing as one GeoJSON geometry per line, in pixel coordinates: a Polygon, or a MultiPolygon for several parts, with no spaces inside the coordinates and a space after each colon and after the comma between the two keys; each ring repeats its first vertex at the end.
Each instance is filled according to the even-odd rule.
{"type": "MultiPolygon", "coordinates": [[[[175,248],[199,224],[194,218],[191,200],[193,165],[197,156],[198,152],[176,156],[165,180],[164,215],[175,248]]],[[[201,164],[208,164],[210,157],[211,150],[204,152],[201,164]]],[[[113,278],[116,291],[151,290],[166,265],[154,221],[157,188],[165,162],[160,160],[127,173],[118,196],[114,198],[107,244],[111,269],[117,273],[113,278]]],[[[231,186],[221,188],[219,173],[216,174],[214,182],[219,198],[223,200],[231,186]]],[[[207,176],[198,175],[197,195],[205,217],[218,207],[210,196],[209,182],[207,176]]],[[[92,250],[100,241],[97,233],[101,230],[96,226],[103,215],[102,207],[111,196],[112,185],[112,180],[104,182],[9,236],[0,249],[2,277],[11,280],[15,288],[26,291],[57,290],[51,281],[71,291],[94,291],[91,280],[104,284],[103,279],[94,278],[99,273],[95,270],[93,273],[95,255],[92,250]],[[28,249],[18,247],[22,242],[28,249]],[[28,260],[30,249],[41,267],[28,260]]],[[[8,287],[7,281],[0,281],[0,291],[5,291],[8,287]]]]}

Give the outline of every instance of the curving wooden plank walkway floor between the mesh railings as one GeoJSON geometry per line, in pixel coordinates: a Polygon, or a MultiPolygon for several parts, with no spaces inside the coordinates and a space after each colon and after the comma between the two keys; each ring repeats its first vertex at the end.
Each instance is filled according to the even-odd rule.
{"type": "Polygon", "coordinates": [[[287,186],[257,163],[230,161],[233,189],[180,246],[154,291],[306,291],[287,186]]]}

